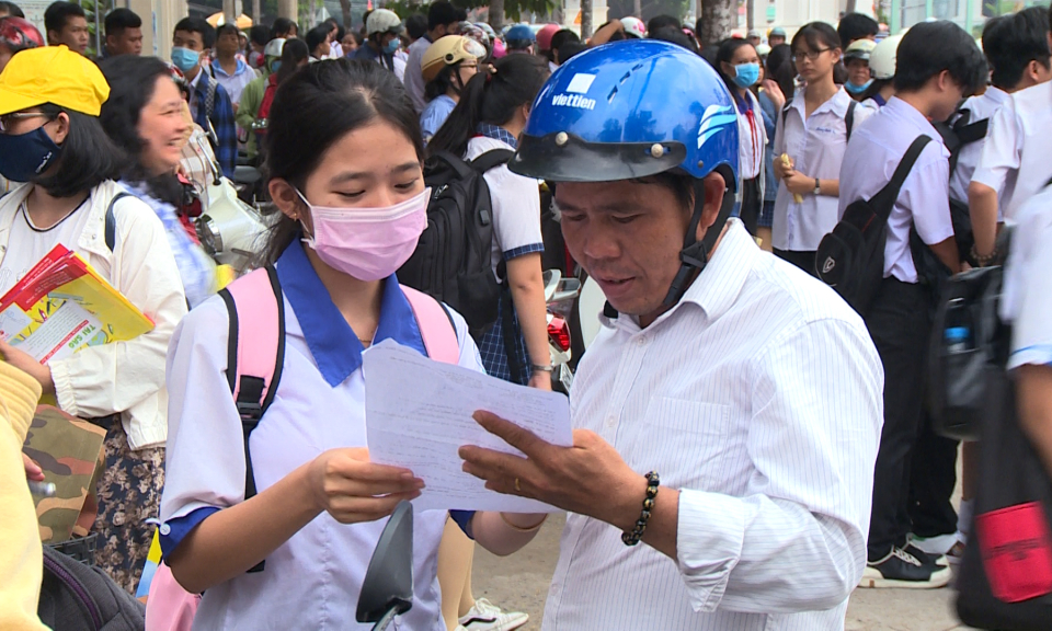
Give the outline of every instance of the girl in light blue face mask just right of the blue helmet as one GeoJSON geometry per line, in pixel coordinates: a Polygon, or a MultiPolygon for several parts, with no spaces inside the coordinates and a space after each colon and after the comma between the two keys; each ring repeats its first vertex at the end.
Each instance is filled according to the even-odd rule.
{"type": "Polygon", "coordinates": [[[748,233],[755,236],[764,204],[764,152],[767,148],[767,130],[759,102],[750,90],[759,81],[759,55],[748,42],[730,38],[720,45],[716,69],[737,105],[739,176],[742,179],[739,217],[748,233]]]}

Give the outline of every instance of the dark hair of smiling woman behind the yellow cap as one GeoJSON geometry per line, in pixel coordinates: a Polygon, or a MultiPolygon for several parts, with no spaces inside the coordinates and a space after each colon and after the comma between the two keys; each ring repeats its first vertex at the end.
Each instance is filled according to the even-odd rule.
{"type": "Polygon", "coordinates": [[[139,137],[139,117],[142,108],[153,97],[158,77],[171,78],[168,65],[157,57],[118,55],[104,59],[99,65],[106,82],[110,97],[102,105],[99,119],[103,129],[116,144],[127,161],[122,176],[146,185],[150,196],[173,206],[183,203],[183,190],[174,173],[150,173],[142,163],[146,142],[139,137]]]}

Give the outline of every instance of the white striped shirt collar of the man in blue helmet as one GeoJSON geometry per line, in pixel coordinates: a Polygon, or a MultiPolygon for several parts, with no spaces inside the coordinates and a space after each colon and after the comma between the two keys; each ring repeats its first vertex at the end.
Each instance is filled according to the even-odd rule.
{"type": "MultiPolygon", "coordinates": [[[[757,256],[759,256],[759,248],[745,231],[741,220],[729,219],[727,232],[720,239],[719,245],[705,269],[694,279],[679,302],[662,313],[654,321],[654,324],[671,318],[686,303],[700,307],[710,321],[719,318],[731,308],[731,305],[741,294],[742,287],[745,285],[745,278],[752,272],[757,256]]],[[[604,307],[599,320],[607,326],[616,325],[617,312],[609,307],[609,303],[604,307]]],[[[633,325],[638,322],[637,318],[630,320],[633,325]]],[[[651,326],[654,324],[651,324],[651,326]]]]}

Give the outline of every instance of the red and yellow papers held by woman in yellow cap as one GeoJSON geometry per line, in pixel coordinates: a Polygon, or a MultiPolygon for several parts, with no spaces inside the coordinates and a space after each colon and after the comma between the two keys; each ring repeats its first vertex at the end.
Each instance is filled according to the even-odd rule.
{"type": "Polygon", "coordinates": [[[0,340],[41,364],[152,330],[149,318],[61,244],[0,298],[0,340]]]}

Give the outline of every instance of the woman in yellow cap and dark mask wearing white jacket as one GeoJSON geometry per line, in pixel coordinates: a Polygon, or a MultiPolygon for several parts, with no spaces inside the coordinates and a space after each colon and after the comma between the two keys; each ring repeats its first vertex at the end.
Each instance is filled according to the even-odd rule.
{"type": "Polygon", "coordinates": [[[0,353],[66,413],[106,428],[95,561],[134,592],[164,479],[165,354],[186,299],[160,220],[114,182],[123,154],[98,119],[108,95],[99,68],[65,46],[22,50],[0,73],[0,174],[24,182],[0,199],[0,295],[62,244],[153,330],[44,365],[2,342],[0,353]]]}

